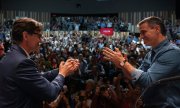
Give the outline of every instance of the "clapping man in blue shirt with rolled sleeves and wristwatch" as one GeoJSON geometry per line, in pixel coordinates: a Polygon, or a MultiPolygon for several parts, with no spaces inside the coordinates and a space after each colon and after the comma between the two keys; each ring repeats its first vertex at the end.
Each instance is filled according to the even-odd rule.
{"type": "Polygon", "coordinates": [[[147,17],[138,23],[138,27],[140,38],[147,46],[152,47],[138,69],[123,57],[118,48],[115,51],[104,48],[104,58],[121,68],[124,74],[142,89],[156,81],[169,78],[142,96],[143,107],[179,108],[180,78],[179,80],[170,80],[170,78],[176,79],[175,77],[180,76],[180,48],[169,42],[165,25],[159,17],[147,17]]]}

